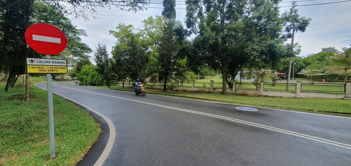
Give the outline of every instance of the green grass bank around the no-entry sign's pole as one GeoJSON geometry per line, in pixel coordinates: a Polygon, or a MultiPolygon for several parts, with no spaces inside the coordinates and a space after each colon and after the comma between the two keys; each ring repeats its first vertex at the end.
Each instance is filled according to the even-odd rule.
{"type": "MultiPolygon", "coordinates": [[[[8,92],[0,92],[0,165],[74,166],[99,137],[100,125],[88,112],[53,95],[55,154],[58,158],[51,159],[47,92],[34,87],[41,81],[46,78],[30,78],[28,102],[23,101],[21,83],[17,88],[9,88],[8,92]],[[24,126],[21,125],[22,113],[24,126]]],[[[5,85],[6,82],[1,82],[0,89],[4,91],[5,85]]]]}

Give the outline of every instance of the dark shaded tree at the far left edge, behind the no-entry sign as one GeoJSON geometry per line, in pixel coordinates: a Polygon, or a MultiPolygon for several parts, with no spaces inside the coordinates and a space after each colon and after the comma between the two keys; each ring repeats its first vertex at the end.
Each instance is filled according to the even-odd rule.
{"type": "MultiPolygon", "coordinates": [[[[0,7],[12,4],[12,0],[0,2],[0,7]]],[[[18,4],[8,7],[0,14],[0,70],[8,74],[5,92],[13,87],[17,78],[16,75],[25,73],[26,64],[26,42],[24,33],[27,29],[27,1],[20,1],[18,4]]],[[[32,57],[38,54],[31,51],[32,57]]]]}

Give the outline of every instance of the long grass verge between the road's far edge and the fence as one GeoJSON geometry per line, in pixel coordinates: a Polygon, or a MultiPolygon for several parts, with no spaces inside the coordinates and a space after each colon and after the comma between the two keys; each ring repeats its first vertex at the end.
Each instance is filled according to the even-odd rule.
{"type": "MultiPolygon", "coordinates": [[[[107,88],[102,86],[103,88],[107,88]]],[[[110,89],[134,91],[133,87],[114,85],[110,89]]],[[[225,102],[232,104],[260,106],[266,108],[323,113],[351,117],[351,102],[342,99],[325,99],[325,98],[284,98],[284,97],[256,97],[236,94],[218,94],[218,93],[201,93],[185,92],[158,89],[145,89],[147,94],[158,94],[166,96],[176,96],[181,98],[193,98],[205,101],[225,102]]],[[[131,94],[135,95],[135,94],[131,94]]]]}

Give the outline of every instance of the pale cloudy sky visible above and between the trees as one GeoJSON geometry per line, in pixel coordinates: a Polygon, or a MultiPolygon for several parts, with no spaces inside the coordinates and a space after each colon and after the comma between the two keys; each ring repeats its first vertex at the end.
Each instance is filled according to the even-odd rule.
{"type": "MultiPolygon", "coordinates": [[[[162,0],[160,0],[162,1],[162,0]]],[[[178,1],[178,0],[176,0],[178,1]]],[[[291,0],[283,0],[280,6],[291,6],[291,0]]],[[[330,2],[340,2],[346,0],[296,0],[298,5],[323,4],[330,2]],[[300,1],[300,2],[299,2],[300,1]]],[[[177,2],[181,3],[181,2],[177,2]]],[[[98,8],[97,17],[88,16],[89,20],[82,18],[71,19],[73,25],[78,29],[84,29],[87,37],[81,36],[82,42],[86,43],[93,50],[98,42],[104,42],[108,51],[111,53],[111,48],[114,46],[116,39],[109,34],[108,30],[116,30],[119,22],[126,25],[132,24],[135,28],[142,26],[141,21],[147,19],[149,16],[161,15],[162,4],[153,4],[148,10],[134,12],[121,11],[117,7],[98,8]]],[[[176,5],[176,8],[185,8],[185,5],[176,5]]],[[[299,56],[306,57],[310,54],[315,54],[321,51],[324,47],[335,47],[341,50],[341,47],[350,47],[351,44],[351,1],[325,4],[325,5],[311,5],[298,6],[298,13],[306,18],[311,18],[310,25],[304,33],[298,32],[295,34],[294,42],[300,44],[301,53],[299,56]]],[[[290,7],[280,8],[283,13],[289,10],[290,7]]],[[[176,9],[177,20],[184,24],[185,9],[176,9]]],[[[289,41],[291,43],[291,39],[289,41]]],[[[90,54],[93,57],[93,53],[90,54]]]]}

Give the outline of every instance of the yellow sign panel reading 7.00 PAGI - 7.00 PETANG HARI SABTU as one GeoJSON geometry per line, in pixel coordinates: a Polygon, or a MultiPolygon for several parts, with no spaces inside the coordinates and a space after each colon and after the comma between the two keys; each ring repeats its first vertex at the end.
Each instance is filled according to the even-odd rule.
{"type": "Polygon", "coordinates": [[[28,73],[67,73],[67,66],[27,65],[28,73]]]}

